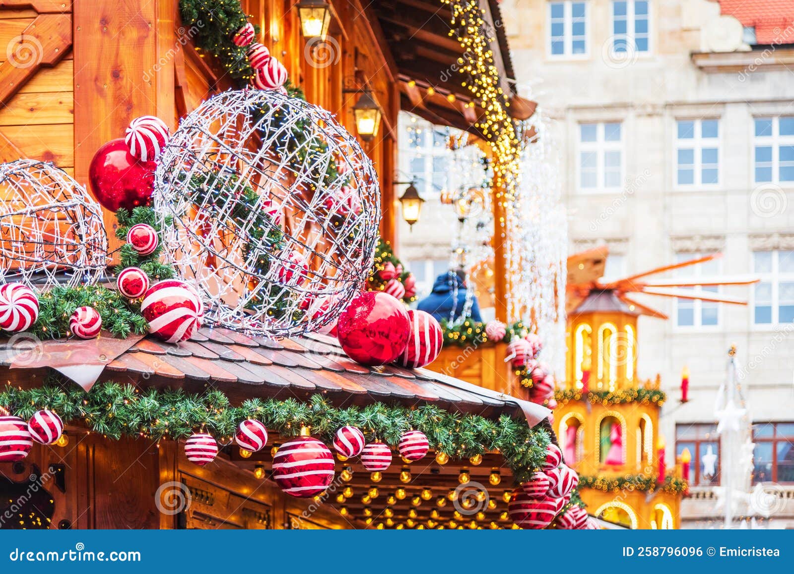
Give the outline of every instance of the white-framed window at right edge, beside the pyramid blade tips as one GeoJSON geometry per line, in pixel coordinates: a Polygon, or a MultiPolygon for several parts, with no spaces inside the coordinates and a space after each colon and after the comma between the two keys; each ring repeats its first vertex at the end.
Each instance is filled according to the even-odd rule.
{"type": "Polygon", "coordinates": [[[753,323],[794,323],[794,251],[754,251],[753,323]]]}

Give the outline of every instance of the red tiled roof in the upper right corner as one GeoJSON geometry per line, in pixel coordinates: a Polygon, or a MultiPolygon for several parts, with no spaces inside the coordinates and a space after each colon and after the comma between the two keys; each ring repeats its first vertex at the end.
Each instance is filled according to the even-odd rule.
{"type": "Polygon", "coordinates": [[[757,44],[794,44],[792,0],[719,0],[723,14],[755,28],[757,44]]]}

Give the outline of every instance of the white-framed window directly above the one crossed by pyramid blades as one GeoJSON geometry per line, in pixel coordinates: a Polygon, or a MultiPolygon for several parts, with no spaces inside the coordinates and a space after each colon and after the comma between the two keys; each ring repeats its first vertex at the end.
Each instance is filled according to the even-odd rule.
{"type": "Polygon", "coordinates": [[[719,185],[719,120],[676,121],[676,186],[719,185]]]}

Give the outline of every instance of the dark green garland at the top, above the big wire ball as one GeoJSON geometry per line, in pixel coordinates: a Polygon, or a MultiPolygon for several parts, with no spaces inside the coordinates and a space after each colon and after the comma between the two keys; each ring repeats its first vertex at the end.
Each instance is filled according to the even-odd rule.
{"type": "MultiPolygon", "coordinates": [[[[248,47],[237,46],[232,38],[248,21],[235,0],[179,0],[179,13],[196,45],[214,55],[232,78],[247,85],[253,76],[248,47]]],[[[259,28],[254,27],[256,33],[259,28]]]]}

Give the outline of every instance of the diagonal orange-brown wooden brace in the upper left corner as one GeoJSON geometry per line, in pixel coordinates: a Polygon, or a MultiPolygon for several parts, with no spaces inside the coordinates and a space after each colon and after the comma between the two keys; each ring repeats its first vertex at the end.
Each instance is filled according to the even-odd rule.
{"type": "Polygon", "coordinates": [[[38,16],[7,44],[6,54],[13,55],[13,59],[0,64],[0,102],[8,101],[42,67],[60,62],[70,46],[69,14],[38,16]]]}

